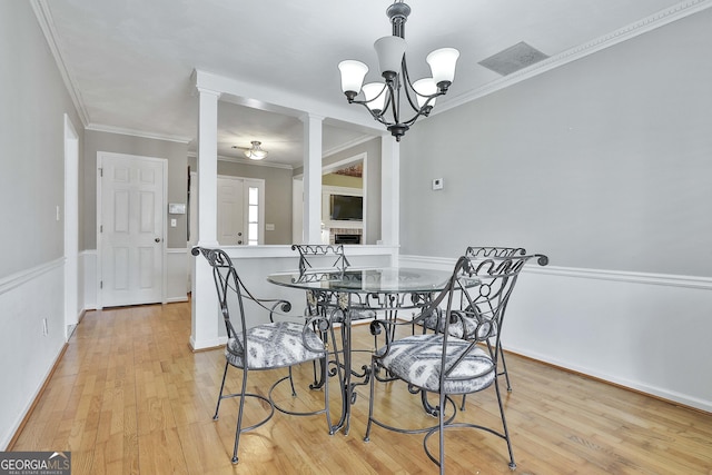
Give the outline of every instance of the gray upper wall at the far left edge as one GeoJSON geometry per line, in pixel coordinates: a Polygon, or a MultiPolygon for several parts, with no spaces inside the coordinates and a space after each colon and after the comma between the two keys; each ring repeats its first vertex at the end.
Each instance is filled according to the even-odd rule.
{"type": "Polygon", "coordinates": [[[0,58],[2,278],[63,256],[63,115],[80,148],[82,126],[29,2],[0,2],[0,58]]]}

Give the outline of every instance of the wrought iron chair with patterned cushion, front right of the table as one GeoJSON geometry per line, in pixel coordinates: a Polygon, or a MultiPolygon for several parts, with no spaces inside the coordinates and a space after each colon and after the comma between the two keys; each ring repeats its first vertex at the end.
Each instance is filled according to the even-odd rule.
{"type": "Polygon", "coordinates": [[[447,287],[415,317],[416,320],[423,320],[433,313],[438,313],[442,316],[443,331],[393,339],[390,327],[409,323],[377,319],[370,324],[372,333],[385,338],[385,345],[377,349],[372,357],[372,374],[385,370],[392,376],[392,380],[402,380],[407,384],[412,393],[437,394],[439,404],[435,407],[435,414],[438,417],[436,426],[417,429],[392,426],[374,415],[376,407],[375,385],[379,378],[372,378],[368,425],[364,438],[366,442],[369,441],[373,424],[399,433],[424,433],[425,453],[431,461],[439,466],[441,474],[444,474],[445,429],[451,427],[477,428],[505,439],[510,468],[516,468],[500,393],[498,355],[497,352],[486,350],[482,345],[486,345],[487,340],[494,338],[496,347],[502,330],[504,309],[512,294],[512,286],[526,260],[526,256],[496,259],[461,257],[455,265],[447,287]],[[475,294],[486,296],[486,298],[475,303],[472,297],[473,288],[479,289],[475,294]],[[467,305],[461,305],[461,300],[466,301],[467,305]],[[465,331],[459,337],[455,337],[451,327],[458,324],[465,331]],[[496,392],[502,428],[456,422],[457,408],[452,396],[478,393],[491,386],[494,386],[496,392]],[[446,415],[449,410],[446,410],[448,403],[453,410],[449,416],[446,415]],[[427,446],[427,441],[436,433],[439,435],[437,456],[433,455],[427,446]]]}

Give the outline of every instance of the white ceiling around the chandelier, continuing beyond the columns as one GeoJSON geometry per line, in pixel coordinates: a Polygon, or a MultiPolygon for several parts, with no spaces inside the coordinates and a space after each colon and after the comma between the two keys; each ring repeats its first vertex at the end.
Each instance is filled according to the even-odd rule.
{"type": "MultiPolygon", "coordinates": [[[[711,1],[408,0],[408,69],[412,78],[429,76],[429,51],[461,51],[455,81],[438,98],[436,112],[505,83],[507,78],[478,62],[520,41],[551,57],[530,68],[543,71],[544,63],[575,59],[711,1]]],[[[373,42],[390,34],[390,3],[33,0],[87,128],[190,141],[190,150],[198,120],[195,69],[357,107],[346,103],[337,65],[359,59],[370,66],[367,81],[379,79],[373,42]]],[[[260,140],[270,152],[267,160],[301,162],[303,128],[295,117],[220,101],[218,125],[221,156],[238,157],[231,146],[260,140]]],[[[363,137],[363,128],[325,120],[327,154],[363,137]]]]}

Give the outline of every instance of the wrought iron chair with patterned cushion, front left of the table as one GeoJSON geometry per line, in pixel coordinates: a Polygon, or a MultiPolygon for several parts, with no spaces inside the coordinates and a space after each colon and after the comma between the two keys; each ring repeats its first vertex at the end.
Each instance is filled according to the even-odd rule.
{"type": "Polygon", "coordinates": [[[225,251],[195,247],[191,253],[194,256],[202,254],[212,267],[212,277],[215,278],[220,311],[227,329],[228,342],[225,347],[225,372],[222,373],[222,383],[220,384],[220,393],[212,418],[215,420],[218,419],[218,412],[222,399],[239,398],[233,463],[236,464],[238,462],[237,451],[240,434],[266,424],[274,416],[275,409],[298,416],[325,414],[327,427],[330,433],[332,420],[328,410],[329,394],[328,380],[326,378],[327,350],[324,342],[314,330],[314,328],[318,328],[318,330],[325,331],[328,323],[319,319],[318,316],[308,318],[306,323],[301,319],[299,319],[298,323],[287,320],[275,321],[274,315],[277,314],[277,309],[281,311],[289,311],[291,309],[291,305],[287,300],[260,299],[253,296],[245,287],[233,261],[225,251]],[[245,300],[253,301],[269,311],[269,323],[248,328],[246,324],[245,300]],[[322,362],[320,367],[324,372],[322,376],[324,379],[324,406],[313,412],[294,412],[277,405],[273,398],[273,392],[280,383],[287,379],[291,385],[293,396],[296,396],[291,379],[293,366],[316,360],[322,362]],[[240,389],[238,393],[224,394],[227,370],[230,366],[243,370],[240,389]],[[269,388],[267,396],[247,392],[247,377],[249,372],[285,367],[289,369],[289,374],[275,382],[269,388]],[[267,403],[268,414],[258,423],[249,427],[243,427],[245,400],[248,397],[267,403]]]}

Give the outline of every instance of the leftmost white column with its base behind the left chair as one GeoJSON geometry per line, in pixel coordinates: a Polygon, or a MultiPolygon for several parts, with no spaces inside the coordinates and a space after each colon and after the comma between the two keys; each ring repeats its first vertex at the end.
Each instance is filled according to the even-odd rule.
{"type": "MultiPolygon", "coordinates": [[[[219,92],[198,88],[198,246],[217,247],[218,99],[219,92]]],[[[192,259],[190,346],[220,345],[217,294],[212,271],[202,256],[192,259]]]]}

